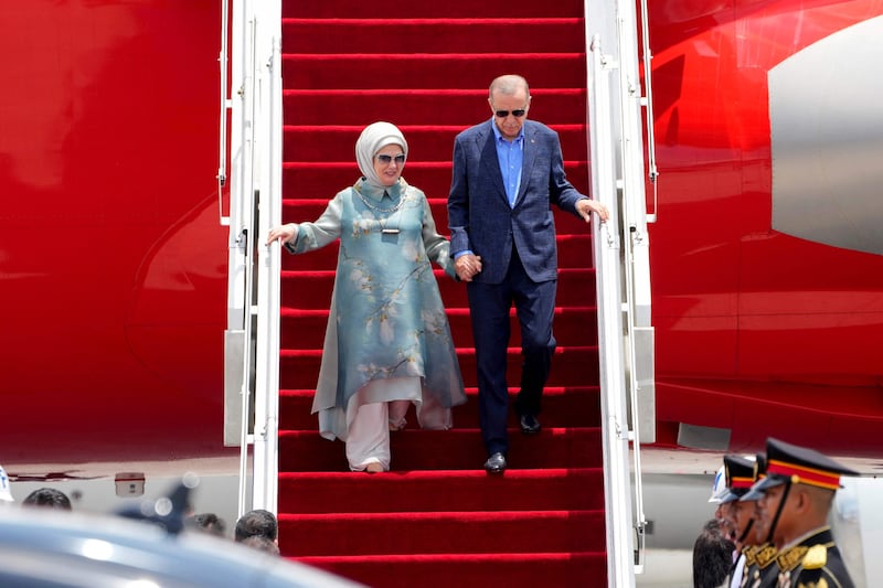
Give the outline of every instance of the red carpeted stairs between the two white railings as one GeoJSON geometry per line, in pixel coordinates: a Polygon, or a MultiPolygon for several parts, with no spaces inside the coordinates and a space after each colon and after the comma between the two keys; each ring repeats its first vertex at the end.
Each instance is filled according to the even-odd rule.
{"type": "MultiPolygon", "coordinates": [[[[443,234],[454,136],[487,119],[487,86],[519,73],[530,116],[558,131],[581,190],[586,164],[582,0],[283,2],[283,216],[312,221],[359,175],[354,143],[376,120],[409,143],[404,172],[443,234]]],[[[283,261],[279,541],[283,554],[375,587],[605,586],[605,523],[595,289],[588,227],[556,213],[558,350],[541,415],[511,423],[510,469],[488,477],[478,430],[465,286],[436,271],[469,394],[455,429],[393,435],[393,471],[347,471],[310,403],[337,246],[283,261]]],[[[513,327],[515,325],[513,319],[513,327]]],[[[510,384],[519,381],[513,328],[510,384]]],[[[512,391],[514,392],[514,391],[512,391]]]]}

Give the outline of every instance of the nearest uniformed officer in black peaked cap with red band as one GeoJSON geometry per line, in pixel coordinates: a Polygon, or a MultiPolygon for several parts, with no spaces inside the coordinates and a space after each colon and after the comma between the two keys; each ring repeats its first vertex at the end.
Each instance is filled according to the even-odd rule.
{"type": "Polygon", "coordinates": [[[858,475],[804,447],[769,438],[767,475],[743,500],[756,500],[778,555],[779,588],[853,588],[828,526],[841,475],[858,475]]]}

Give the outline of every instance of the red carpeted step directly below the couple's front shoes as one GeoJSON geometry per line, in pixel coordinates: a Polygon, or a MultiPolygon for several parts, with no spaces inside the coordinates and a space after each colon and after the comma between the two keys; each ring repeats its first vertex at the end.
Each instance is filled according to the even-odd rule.
{"type": "Polygon", "coordinates": [[[279,512],[594,511],[604,507],[600,468],[281,472],[279,512]]]}

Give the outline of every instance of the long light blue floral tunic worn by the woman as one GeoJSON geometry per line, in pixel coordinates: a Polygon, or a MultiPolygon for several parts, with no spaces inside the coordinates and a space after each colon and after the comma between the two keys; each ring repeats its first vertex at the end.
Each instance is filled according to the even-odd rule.
{"type": "Polygon", "coordinates": [[[430,260],[450,277],[455,271],[425,194],[404,179],[385,192],[362,179],[339,192],[315,223],[299,224],[295,244],[286,247],[306,253],[337,238],[340,254],[312,406],[320,432],[345,440],[361,404],[398,399],[416,404],[422,426],[449,428],[450,407],[465,403],[466,395],[430,260]],[[365,388],[407,377],[421,385],[365,388]],[[369,396],[360,394],[364,389],[369,396]]]}

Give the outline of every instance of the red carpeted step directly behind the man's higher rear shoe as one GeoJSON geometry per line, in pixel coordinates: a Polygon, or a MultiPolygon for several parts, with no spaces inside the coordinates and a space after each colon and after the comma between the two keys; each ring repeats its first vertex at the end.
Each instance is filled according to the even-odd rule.
{"type": "MultiPolygon", "coordinates": [[[[510,406],[514,406],[517,387],[509,388],[510,406]]],[[[283,430],[312,431],[318,427],[316,415],[310,413],[315,391],[281,389],[279,391],[279,428],[283,430]]],[[[478,391],[467,388],[468,402],[455,406],[454,426],[457,428],[478,428],[478,391]]],[[[586,423],[597,424],[600,420],[600,400],[597,386],[547,387],[543,392],[542,421],[547,427],[579,427],[586,423]]],[[[407,428],[418,428],[414,409],[407,415],[407,428]]],[[[512,411],[509,426],[515,428],[518,419],[512,411]]]]}

